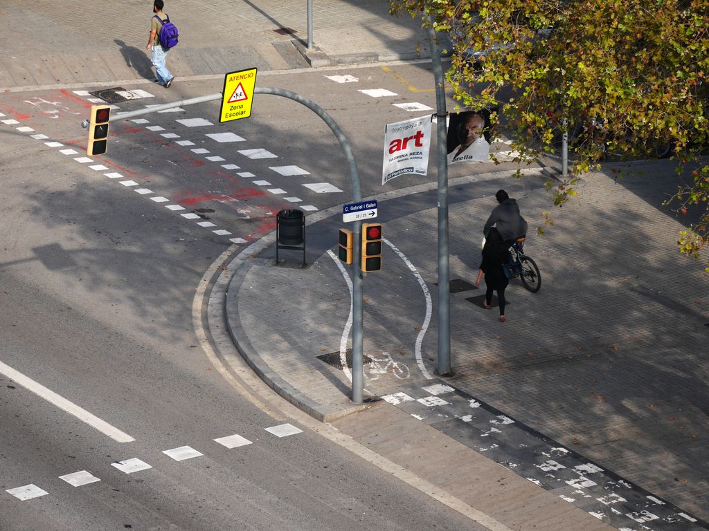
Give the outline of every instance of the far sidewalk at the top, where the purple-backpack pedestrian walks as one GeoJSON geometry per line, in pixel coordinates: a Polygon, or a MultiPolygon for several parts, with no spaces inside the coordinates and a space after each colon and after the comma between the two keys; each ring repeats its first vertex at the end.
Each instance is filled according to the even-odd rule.
{"type": "MultiPolygon", "coordinates": [[[[386,0],[313,3],[307,50],[306,0],[165,2],[180,40],[167,66],[180,78],[223,76],[257,67],[282,70],[328,64],[430,57],[425,32],[410,16],[389,15],[386,0]]],[[[36,86],[120,84],[155,79],[145,50],[152,1],[8,0],[0,10],[0,91],[36,86]]]]}

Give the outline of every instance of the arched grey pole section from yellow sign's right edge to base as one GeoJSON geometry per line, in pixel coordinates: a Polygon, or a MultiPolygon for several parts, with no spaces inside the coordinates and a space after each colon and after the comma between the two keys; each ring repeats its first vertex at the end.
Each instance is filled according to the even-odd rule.
{"type": "MultiPolygon", "coordinates": [[[[297,101],[305,105],[313,113],[320,116],[323,122],[328,124],[330,130],[335,133],[335,137],[340,142],[342,149],[345,151],[347,164],[350,166],[350,177],[352,178],[352,199],[354,202],[362,201],[362,188],[359,184],[359,171],[357,170],[357,162],[354,161],[352,147],[350,141],[345,137],[340,126],[333,118],[325,113],[325,110],[317,103],[303,98],[300,94],[286,91],[284,89],[275,89],[271,86],[257,86],[254,89],[255,93],[259,94],[274,94],[275,96],[284,96],[293,101],[297,101]]],[[[354,404],[362,404],[364,401],[364,333],[362,331],[362,322],[364,321],[364,311],[362,309],[362,265],[360,257],[362,256],[362,222],[354,222],[354,278],[352,280],[352,401],[354,404]]]]}

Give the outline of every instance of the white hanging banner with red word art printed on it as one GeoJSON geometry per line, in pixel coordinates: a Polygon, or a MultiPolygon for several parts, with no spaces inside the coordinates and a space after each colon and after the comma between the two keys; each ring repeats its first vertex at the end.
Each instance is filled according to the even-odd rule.
{"type": "Polygon", "coordinates": [[[387,124],[384,127],[384,171],[381,184],[406,173],[428,172],[432,115],[387,124]]]}

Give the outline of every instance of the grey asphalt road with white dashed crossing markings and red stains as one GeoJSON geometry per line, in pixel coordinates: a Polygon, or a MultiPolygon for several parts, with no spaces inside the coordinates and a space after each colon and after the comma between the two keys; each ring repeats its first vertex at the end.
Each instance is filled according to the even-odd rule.
{"type": "MultiPolygon", "coordinates": [[[[313,99],[342,124],[366,196],[386,190],[384,123],[430,112],[392,105],[432,106],[427,68],[289,72],[261,82],[313,99]],[[363,88],[397,96],[374,98],[363,88]]],[[[169,91],[136,84],[124,88],[155,97],[119,106],[133,110],[220,86],[219,79],[177,82],[169,91]]],[[[118,442],[107,435],[116,431],[79,420],[5,368],[0,528],[481,529],[309,430],[269,432],[292,424],[238,394],[199,346],[193,298],[220,253],[272,230],[281,208],[321,210],[350,200],[344,156],[325,124],[274,96],[255,101],[252,118],[223,126],[218,103],[194,105],[112,123],[108,155],[82,162],[79,122],[91,102],[75,90],[0,96],[0,120],[18,122],[0,125],[0,362],[134,440],[118,442]],[[196,119],[212,125],[177,121],[196,119]],[[243,140],[218,140],[233,135],[243,140]],[[252,158],[261,150],[273,156],[252,158]],[[232,435],[250,444],[215,440],[232,435]],[[182,453],[170,452],[176,449],[182,453]],[[143,469],[126,474],[135,463],[143,469]],[[40,493],[31,486],[46,494],[21,500],[40,493]]]]}

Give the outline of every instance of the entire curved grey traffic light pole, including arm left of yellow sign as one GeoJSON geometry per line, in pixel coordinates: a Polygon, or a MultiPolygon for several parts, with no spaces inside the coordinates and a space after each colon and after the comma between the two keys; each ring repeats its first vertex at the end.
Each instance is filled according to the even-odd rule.
{"type": "MultiPolygon", "coordinates": [[[[335,137],[340,142],[342,150],[345,152],[347,166],[350,167],[350,179],[352,180],[352,200],[353,202],[362,201],[362,186],[359,183],[359,170],[357,169],[357,161],[354,160],[350,141],[345,137],[337,122],[328,115],[317,103],[314,103],[308,98],[303,98],[298,93],[286,91],[284,89],[276,89],[270,86],[257,86],[254,88],[254,93],[258,94],[273,94],[274,96],[283,96],[293,101],[305,105],[307,108],[316,113],[323,122],[325,122],[330,130],[333,131],[335,137]]],[[[116,120],[127,120],[135,116],[142,116],[150,113],[157,113],[160,110],[168,110],[175,107],[184,107],[186,105],[194,105],[195,103],[204,103],[206,101],[220,100],[223,97],[222,93],[210,94],[209,96],[198,96],[197,98],[189,98],[186,100],[174,101],[172,103],[164,103],[163,105],[155,105],[147,109],[132,110],[128,113],[116,113],[111,115],[110,122],[116,120]]],[[[84,128],[89,127],[89,120],[82,122],[84,128]]],[[[362,404],[364,401],[364,331],[362,323],[364,321],[364,310],[362,308],[362,221],[354,222],[353,231],[353,252],[354,252],[354,279],[352,280],[352,401],[354,404],[362,404]]]]}

